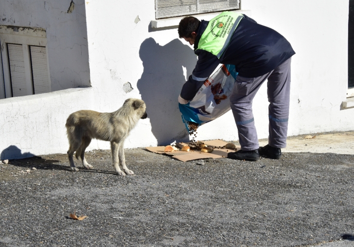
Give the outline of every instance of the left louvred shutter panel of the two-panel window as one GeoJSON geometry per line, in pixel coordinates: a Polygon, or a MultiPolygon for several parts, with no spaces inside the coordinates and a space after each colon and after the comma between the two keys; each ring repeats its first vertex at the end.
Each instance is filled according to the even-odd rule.
{"type": "Polygon", "coordinates": [[[22,45],[7,44],[12,97],[27,95],[22,45]]]}

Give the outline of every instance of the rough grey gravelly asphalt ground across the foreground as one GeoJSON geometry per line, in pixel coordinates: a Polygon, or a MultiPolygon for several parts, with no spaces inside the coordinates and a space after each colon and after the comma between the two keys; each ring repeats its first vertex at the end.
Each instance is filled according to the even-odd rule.
{"type": "Polygon", "coordinates": [[[79,172],[63,154],[0,164],[0,246],[354,244],[353,155],[125,157],[135,176],[115,175],[108,150],[87,153],[93,170],[76,161],[79,172]]]}

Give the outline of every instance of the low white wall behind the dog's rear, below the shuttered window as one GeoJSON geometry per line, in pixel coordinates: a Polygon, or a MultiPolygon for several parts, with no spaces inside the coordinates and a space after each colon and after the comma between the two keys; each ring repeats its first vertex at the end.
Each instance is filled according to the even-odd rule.
{"type": "Polygon", "coordinates": [[[93,107],[91,98],[92,88],[71,88],[0,100],[0,159],[66,153],[66,119],[93,107]]]}

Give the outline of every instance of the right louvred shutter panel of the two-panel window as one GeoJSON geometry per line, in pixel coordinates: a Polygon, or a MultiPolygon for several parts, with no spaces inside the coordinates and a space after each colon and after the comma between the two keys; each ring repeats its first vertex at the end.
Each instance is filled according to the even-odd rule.
{"type": "Polygon", "coordinates": [[[35,94],[50,92],[46,48],[30,46],[35,94]]]}

